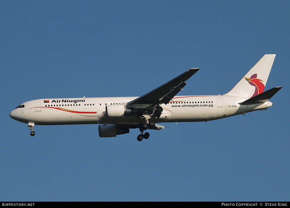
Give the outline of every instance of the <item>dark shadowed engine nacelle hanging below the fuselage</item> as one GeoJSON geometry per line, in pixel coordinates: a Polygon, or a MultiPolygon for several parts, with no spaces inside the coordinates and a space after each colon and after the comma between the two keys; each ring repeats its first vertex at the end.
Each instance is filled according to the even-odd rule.
{"type": "Polygon", "coordinates": [[[99,136],[100,137],[116,137],[120,134],[129,133],[129,128],[117,126],[116,124],[103,124],[99,125],[99,136]]]}

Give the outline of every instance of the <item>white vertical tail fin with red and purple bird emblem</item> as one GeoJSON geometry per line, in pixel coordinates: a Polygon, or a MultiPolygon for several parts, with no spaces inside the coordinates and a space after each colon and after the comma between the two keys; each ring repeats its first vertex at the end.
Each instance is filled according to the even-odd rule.
{"type": "Polygon", "coordinates": [[[265,54],[231,91],[224,95],[254,97],[266,86],[276,54],[265,54]]]}

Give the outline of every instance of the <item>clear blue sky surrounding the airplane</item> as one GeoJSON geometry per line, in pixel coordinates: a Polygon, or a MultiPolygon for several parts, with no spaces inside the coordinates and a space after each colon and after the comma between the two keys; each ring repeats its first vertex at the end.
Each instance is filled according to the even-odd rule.
{"type": "Polygon", "coordinates": [[[1,201],[289,201],[289,1],[1,1],[1,201]],[[8,114],[57,97],[227,93],[277,54],[268,111],[100,138],[8,114]],[[286,95],[286,96],[285,96],[286,95]]]}

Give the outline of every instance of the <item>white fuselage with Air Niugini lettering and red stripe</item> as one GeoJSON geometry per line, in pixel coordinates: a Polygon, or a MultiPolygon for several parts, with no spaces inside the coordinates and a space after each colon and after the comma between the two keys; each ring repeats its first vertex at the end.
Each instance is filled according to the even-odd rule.
{"type": "MultiPolygon", "coordinates": [[[[107,118],[106,105],[123,104],[137,97],[88,97],[88,98],[53,98],[24,102],[10,112],[10,117],[23,123],[35,125],[67,124],[139,124],[145,118],[128,116],[107,118]]],[[[272,106],[267,101],[262,104],[239,105],[249,97],[229,95],[175,96],[163,108],[159,119],[161,122],[201,122],[221,119],[272,106]]]]}

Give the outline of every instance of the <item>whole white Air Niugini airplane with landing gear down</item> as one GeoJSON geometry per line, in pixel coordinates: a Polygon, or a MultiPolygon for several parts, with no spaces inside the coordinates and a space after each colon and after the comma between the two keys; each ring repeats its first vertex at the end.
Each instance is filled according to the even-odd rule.
{"type": "Polygon", "coordinates": [[[269,99],[282,87],[264,91],[276,54],[265,54],[224,95],[177,96],[200,68],[192,68],[140,97],[44,98],[24,102],[9,113],[12,119],[34,125],[99,124],[99,137],[116,137],[139,128],[138,141],[148,139],[145,130],[160,130],[167,122],[207,122],[234,115],[267,110],[269,99]]]}

